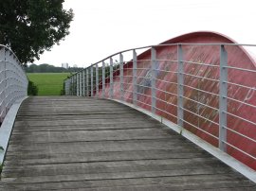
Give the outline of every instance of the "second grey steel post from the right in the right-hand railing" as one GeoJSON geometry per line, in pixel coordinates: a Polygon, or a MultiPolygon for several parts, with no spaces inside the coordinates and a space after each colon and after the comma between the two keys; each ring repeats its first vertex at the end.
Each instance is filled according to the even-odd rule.
{"type": "Polygon", "coordinates": [[[183,52],[181,44],[177,45],[177,61],[178,61],[178,74],[177,74],[177,125],[183,127],[183,84],[184,84],[184,65],[183,65],[183,52]]]}

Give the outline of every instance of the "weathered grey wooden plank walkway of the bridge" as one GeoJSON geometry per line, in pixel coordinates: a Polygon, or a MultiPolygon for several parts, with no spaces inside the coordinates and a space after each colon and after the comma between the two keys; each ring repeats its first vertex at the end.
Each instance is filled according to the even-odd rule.
{"type": "Polygon", "coordinates": [[[30,97],[0,190],[256,190],[151,117],[110,100],[30,97]]]}

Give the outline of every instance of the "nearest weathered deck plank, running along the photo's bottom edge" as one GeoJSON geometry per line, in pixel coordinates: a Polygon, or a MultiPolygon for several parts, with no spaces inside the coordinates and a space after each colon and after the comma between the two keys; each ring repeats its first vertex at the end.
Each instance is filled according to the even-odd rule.
{"type": "MultiPolygon", "coordinates": [[[[111,189],[111,190],[128,190],[128,188],[147,188],[148,190],[236,190],[237,187],[243,190],[252,190],[253,185],[245,185],[247,181],[233,182],[238,177],[229,174],[218,175],[198,175],[182,177],[161,177],[161,178],[140,178],[140,179],[118,179],[118,180],[100,180],[100,181],[74,181],[74,182],[48,182],[48,183],[29,183],[29,184],[12,184],[9,189],[28,189],[28,190],[51,190],[65,188],[70,189],[111,189]],[[204,179],[204,182],[200,182],[204,179]],[[241,185],[242,184],[242,185],[241,185]],[[115,187],[113,187],[115,185],[115,187]],[[228,188],[227,188],[228,187],[228,188]],[[125,189],[124,189],[125,188],[125,189]]],[[[254,186],[255,188],[255,186],[254,186]]],[[[132,189],[132,190],[133,190],[132,189]]],[[[141,190],[141,189],[139,189],[141,190]]]]}

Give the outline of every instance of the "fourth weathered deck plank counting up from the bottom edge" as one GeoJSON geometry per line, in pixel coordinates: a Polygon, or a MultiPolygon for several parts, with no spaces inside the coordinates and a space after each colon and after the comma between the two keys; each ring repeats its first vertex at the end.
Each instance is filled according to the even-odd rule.
{"type": "Polygon", "coordinates": [[[208,158],[203,150],[192,149],[151,149],[131,151],[101,151],[101,152],[77,152],[77,153],[45,153],[45,154],[15,154],[7,156],[5,165],[44,165],[44,164],[67,164],[85,162],[110,162],[110,161],[133,161],[133,160],[156,160],[156,159],[191,159],[208,158]]]}

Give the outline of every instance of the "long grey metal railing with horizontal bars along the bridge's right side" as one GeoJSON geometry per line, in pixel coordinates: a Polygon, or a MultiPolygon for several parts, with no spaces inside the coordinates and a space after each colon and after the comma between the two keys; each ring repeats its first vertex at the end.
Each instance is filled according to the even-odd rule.
{"type": "Polygon", "coordinates": [[[121,51],[65,79],[65,95],[132,103],[256,169],[256,65],[243,46],[256,47],[175,43],[121,51]]]}

